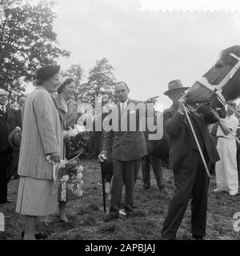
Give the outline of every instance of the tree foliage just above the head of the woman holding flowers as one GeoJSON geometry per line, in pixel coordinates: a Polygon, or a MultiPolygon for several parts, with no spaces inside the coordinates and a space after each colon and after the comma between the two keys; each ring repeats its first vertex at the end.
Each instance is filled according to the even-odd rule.
{"type": "Polygon", "coordinates": [[[68,70],[62,70],[61,72],[62,77],[70,77],[74,79],[74,82],[76,83],[76,94],[75,98],[78,98],[79,94],[82,94],[82,78],[84,75],[84,70],[82,69],[81,64],[73,64],[70,66],[70,69],[68,70]]]}

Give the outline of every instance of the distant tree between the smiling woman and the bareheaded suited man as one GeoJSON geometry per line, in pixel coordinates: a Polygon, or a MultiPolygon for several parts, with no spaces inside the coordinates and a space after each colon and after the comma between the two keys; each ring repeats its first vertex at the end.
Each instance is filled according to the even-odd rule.
{"type": "MultiPolygon", "coordinates": [[[[90,69],[88,82],[82,85],[82,94],[79,95],[81,102],[88,102],[95,106],[95,97],[102,99],[102,104],[114,102],[114,74],[113,66],[106,58],[96,62],[96,66],[90,69]]],[[[80,90],[81,93],[81,90],[80,90]]]]}

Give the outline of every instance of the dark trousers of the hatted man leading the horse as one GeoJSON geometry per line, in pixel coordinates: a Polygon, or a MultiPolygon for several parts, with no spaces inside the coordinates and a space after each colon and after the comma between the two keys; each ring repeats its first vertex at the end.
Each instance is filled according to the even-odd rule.
{"type": "Polygon", "coordinates": [[[206,235],[206,210],[209,178],[202,158],[197,150],[191,149],[186,158],[174,170],[175,190],[168,214],[162,227],[162,237],[175,239],[186,206],[191,201],[191,227],[194,236],[206,235]]]}

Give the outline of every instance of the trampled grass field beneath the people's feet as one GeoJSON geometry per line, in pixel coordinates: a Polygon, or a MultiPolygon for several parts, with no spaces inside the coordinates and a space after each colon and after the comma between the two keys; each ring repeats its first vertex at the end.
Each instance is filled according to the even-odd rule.
{"type": "MultiPolygon", "coordinates": [[[[124,216],[114,222],[103,222],[102,186],[100,168],[95,160],[83,160],[84,194],[82,198],[68,202],[67,215],[69,223],[59,223],[57,217],[50,226],[43,225],[39,218],[39,230],[48,234],[52,240],[88,240],[88,239],[153,239],[160,238],[162,223],[166,217],[167,207],[173,194],[171,171],[163,169],[166,183],[165,190],[158,190],[151,172],[151,187],[142,188],[141,171],[136,183],[135,206],[136,217],[126,219],[124,216]]],[[[210,179],[210,192],[215,188],[215,179],[210,179]]],[[[234,213],[240,212],[240,196],[230,197],[228,194],[213,194],[209,192],[206,239],[240,239],[234,231],[234,213]]],[[[11,204],[0,206],[0,212],[5,214],[6,231],[0,232],[0,239],[20,239],[24,217],[15,213],[18,181],[9,184],[9,199],[11,204]]],[[[107,206],[110,201],[107,201],[107,206]]],[[[178,230],[178,239],[190,237],[190,206],[178,230]]]]}

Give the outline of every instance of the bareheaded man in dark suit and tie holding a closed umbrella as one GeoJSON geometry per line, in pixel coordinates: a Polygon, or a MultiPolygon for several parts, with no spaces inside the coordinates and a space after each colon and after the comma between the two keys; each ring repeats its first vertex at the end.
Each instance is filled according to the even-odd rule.
{"type": "MultiPolygon", "coordinates": [[[[124,117],[127,117],[127,129],[110,130],[106,132],[102,154],[111,151],[113,162],[114,178],[111,191],[110,214],[104,219],[109,222],[119,217],[119,210],[122,200],[122,183],[126,188],[125,212],[126,218],[134,214],[134,185],[137,178],[138,167],[141,158],[147,154],[146,141],[144,134],[139,129],[139,111],[136,110],[136,129],[131,131],[130,114],[134,110],[130,109],[131,105],[137,105],[139,102],[131,100],[128,97],[129,88],[125,82],[118,82],[115,87],[116,96],[119,99],[115,110],[118,114],[118,128],[120,123],[124,123],[124,117]]],[[[114,111],[114,110],[113,110],[114,111]]]]}

